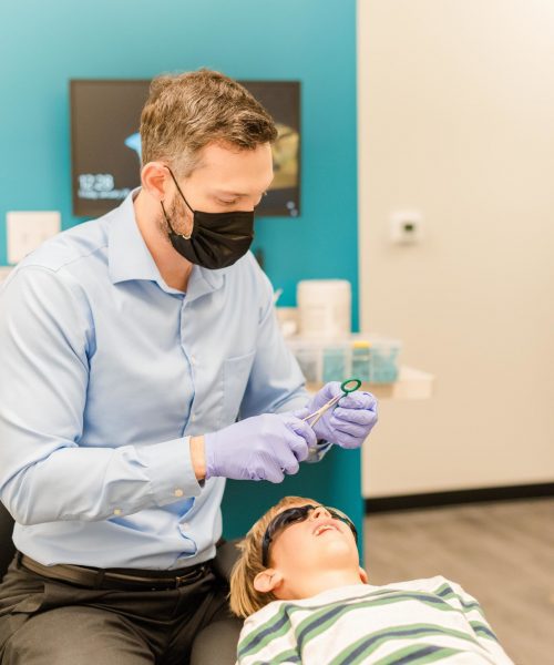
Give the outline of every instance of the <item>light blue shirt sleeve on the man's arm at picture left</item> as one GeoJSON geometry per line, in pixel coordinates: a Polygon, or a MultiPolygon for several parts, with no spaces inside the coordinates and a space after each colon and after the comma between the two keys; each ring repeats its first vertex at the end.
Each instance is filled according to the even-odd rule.
{"type": "Polygon", "coordinates": [[[187,437],[80,447],[94,344],[71,276],[14,270],[0,291],[0,499],[20,524],[104,520],[201,493],[187,437]]]}

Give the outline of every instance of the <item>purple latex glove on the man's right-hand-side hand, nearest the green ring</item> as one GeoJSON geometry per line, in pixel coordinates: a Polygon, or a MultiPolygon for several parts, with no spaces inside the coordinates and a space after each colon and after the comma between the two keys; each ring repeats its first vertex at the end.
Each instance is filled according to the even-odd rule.
{"type": "MultiPolygon", "coordinates": [[[[326,383],[307,405],[308,410],[295,411],[295,416],[305,418],[306,413],[314,413],[341,392],[338,381],[326,383]]],[[[341,448],[360,448],[376,423],[377,399],[370,392],[357,390],[326,411],[314,424],[314,431],[318,440],[337,443],[341,448]]]]}

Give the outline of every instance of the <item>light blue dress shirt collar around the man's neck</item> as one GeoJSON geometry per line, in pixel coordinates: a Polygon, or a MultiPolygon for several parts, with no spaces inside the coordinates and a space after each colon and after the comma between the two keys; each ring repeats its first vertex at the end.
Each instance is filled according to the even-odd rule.
{"type": "MultiPolygon", "coordinates": [[[[156,282],[161,288],[168,293],[182,294],[182,291],[167,286],[164,282],[138,229],[133,206],[133,201],[140,187],[133,190],[112,213],[107,239],[112,283],[145,279],[156,282]]],[[[188,279],[187,299],[193,300],[220,288],[226,269],[208,270],[201,266],[193,266],[188,279]]]]}

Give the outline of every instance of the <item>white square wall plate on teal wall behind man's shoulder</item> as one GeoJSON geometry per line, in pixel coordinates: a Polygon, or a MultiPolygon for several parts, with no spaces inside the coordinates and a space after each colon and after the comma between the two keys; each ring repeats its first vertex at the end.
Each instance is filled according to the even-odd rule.
{"type": "Polygon", "coordinates": [[[30,252],[61,229],[61,215],[49,212],[9,212],[6,214],[8,229],[8,263],[17,264],[30,252]]]}

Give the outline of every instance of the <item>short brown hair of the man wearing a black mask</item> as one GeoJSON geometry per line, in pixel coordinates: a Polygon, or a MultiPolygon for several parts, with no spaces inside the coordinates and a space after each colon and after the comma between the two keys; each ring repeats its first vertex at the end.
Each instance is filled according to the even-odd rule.
{"type": "Polygon", "coordinates": [[[143,165],[167,161],[184,176],[208,143],[254,150],[276,139],[264,106],[243,85],[207,69],[156,76],[141,115],[143,165]]]}

